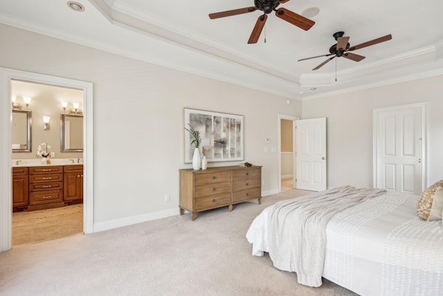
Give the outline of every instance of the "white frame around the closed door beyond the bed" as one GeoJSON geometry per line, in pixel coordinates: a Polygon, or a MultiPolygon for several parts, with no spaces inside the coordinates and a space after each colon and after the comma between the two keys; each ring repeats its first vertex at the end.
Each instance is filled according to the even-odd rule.
{"type": "Polygon", "coordinates": [[[427,127],[427,116],[426,116],[426,106],[427,103],[414,103],[414,104],[408,104],[408,105],[397,105],[397,106],[391,106],[391,107],[382,107],[374,109],[372,112],[372,186],[374,188],[377,188],[378,183],[378,169],[379,169],[379,121],[378,117],[381,112],[386,111],[395,111],[395,110],[408,110],[411,108],[419,107],[422,111],[422,189],[426,189],[427,187],[427,180],[428,180],[428,150],[427,150],[427,134],[426,134],[426,127],[427,127]]]}

